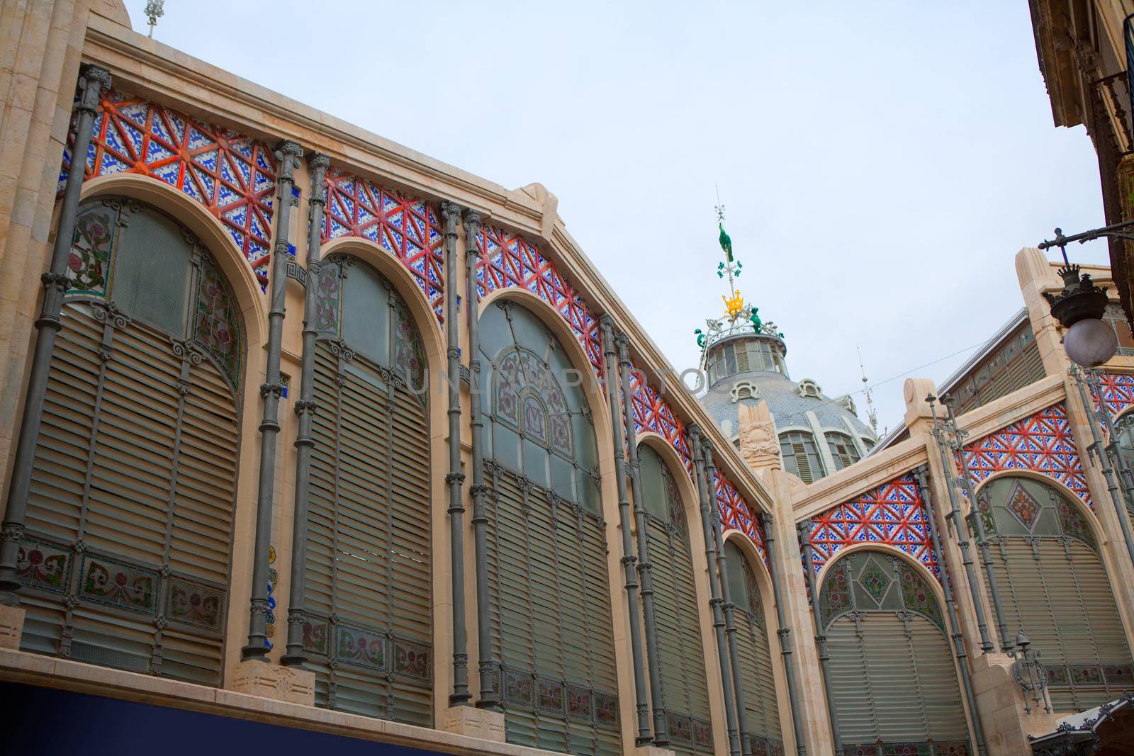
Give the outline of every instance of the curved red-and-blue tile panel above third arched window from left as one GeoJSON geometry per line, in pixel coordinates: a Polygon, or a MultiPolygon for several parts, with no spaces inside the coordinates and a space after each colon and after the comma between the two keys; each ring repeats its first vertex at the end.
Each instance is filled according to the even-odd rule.
{"type": "Polygon", "coordinates": [[[483,227],[476,235],[476,244],[481,249],[481,262],[476,269],[480,296],[497,289],[519,287],[547,301],[567,321],[602,383],[599,318],[564,280],[555,264],[527,239],[496,226],[483,227]]]}

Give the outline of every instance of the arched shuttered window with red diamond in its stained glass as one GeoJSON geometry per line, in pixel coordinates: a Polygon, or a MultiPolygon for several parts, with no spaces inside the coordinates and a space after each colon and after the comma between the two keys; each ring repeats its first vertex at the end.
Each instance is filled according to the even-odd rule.
{"type": "Polygon", "coordinates": [[[1128,690],[1129,647],[1078,507],[1047,483],[1014,476],[990,481],[976,500],[1008,637],[1023,631],[1043,653],[1055,710],[1083,711],[1128,690]]]}

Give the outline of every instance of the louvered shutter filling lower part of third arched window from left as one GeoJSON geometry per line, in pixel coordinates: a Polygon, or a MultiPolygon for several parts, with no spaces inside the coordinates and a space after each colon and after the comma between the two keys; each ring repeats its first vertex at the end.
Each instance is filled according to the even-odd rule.
{"type": "Polygon", "coordinates": [[[619,754],[602,524],[492,462],[486,479],[492,645],[508,741],[619,754]]]}

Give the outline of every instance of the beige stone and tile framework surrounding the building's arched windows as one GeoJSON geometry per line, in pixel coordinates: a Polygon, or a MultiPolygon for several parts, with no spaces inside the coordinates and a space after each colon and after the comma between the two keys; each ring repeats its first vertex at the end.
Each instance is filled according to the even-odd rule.
{"type": "MultiPolygon", "coordinates": [[[[987,744],[989,754],[1025,753],[1029,734],[1048,732],[1060,716],[1073,713],[1027,713],[1024,694],[1012,677],[1013,660],[982,647],[978,612],[989,617],[993,611],[983,584],[970,586],[958,535],[947,518],[947,502],[957,499],[962,507],[967,502],[946,483],[957,473],[946,474],[949,462],[932,433],[932,414],[939,407],[934,409],[925,400],[933,392],[929,382],[906,383],[907,439],[805,485],[781,469],[776,417],[767,405],[742,405],[735,433],[726,434],[719,418],[684,390],[644,329],[567,233],[557,214],[556,197],[542,186],[506,189],[192,59],[130,31],[125,10],[117,3],[5,2],[0,19],[5,52],[0,57],[5,113],[0,124],[0,271],[6,273],[0,278],[6,282],[0,289],[0,351],[6,355],[8,377],[0,396],[0,465],[2,501],[8,502],[6,537],[18,541],[22,528],[11,517],[15,510],[7,492],[20,475],[14,467],[14,445],[26,422],[23,408],[32,380],[31,355],[37,342],[33,321],[44,297],[37,281],[50,265],[54,224],[59,222],[59,168],[66,167],[68,175],[78,170],[71,164],[70,128],[81,63],[105,68],[112,77],[112,88],[101,93],[93,150],[96,160],[85,167],[82,197],[133,198],[170,214],[192,231],[231,286],[247,343],[243,364],[247,377],[240,384],[243,400],[238,405],[243,430],[221,686],[172,681],[84,664],[66,655],[14,649],[23,618],[22,610],[8,606],[0,608],[5,636],[0,679],[428,750],[536,753],[505,742],[498,712],[463,705],[476,702],[479,696],[473,691],[483,695],[480,676],[488,668],[482,663],[490,661],[480,655],[488,644],[481,644],[479,637],[483,625],[479,622],[474,544],[483,503],[477,496],[484,491],[474,491],[472,485],[479,441],[471,419],[468,383],[455,383],[455,402],[447,401],[443,393],[430,401],[429,451],[421,460],[428,467],[431,491],[425,503],[432,534],[433,638],[428,676],[433,691],[433,727],[313,706],[319,691],[311,673],[281,664],[289,651],[286,637],[296,492],[306,485],[296,474],[303,413],[287,409],[303,401],[296,389],[305,350],[303,320],[314,314],[306,312],[306,292],[299,279],[305,278],[304,261],[313,252],[310,245],[319,244],[324,261],[349,253],[397,290],[421,332],[421,359],[430,374],[440,374],[454,362],[469,375],[477,374],[480,366],[468,357],[474,338],[468,318],[456,311],[454,295],[459,295],[462,308],[475,306],[482,314],[501,303],[515,303],[535,313],[545,325],[548,341],[561,347],[583,376],[581,391],[598,439],[598,521],[609,544],[606,588],[612,609],[617,669],[617,690],[612,691],[617,694],[617,711],[594,717],[617,722],[624,751],[663,750],[651,742],[651,727],[657,728],[657,723],[650,723],[651,700],[645,694],[650,664],[649,659],[643,661],[651,652],[648,647],[643,651],[649,644],[635,637],[641,631],[631,619],[640,611],[637,586],[627,589],[635,570],[624,571],[627,563],[634,564],[636,547],[631,536],[641,527],[626,516],[625,482],[633,479],[633,474],[626,474],[625,431],[648,443],[671,470],[684,470],[674,475],[674,481],[685,504],[682,517],[693,544],[692,591],[699,612],[694,631],[700,634],[704,652],[712,736],[706,750],[719,756],[729,753],[729,730],[736,728],[735,686],[729,683],[735,666],[728,660],[734,646],[718,645],[734,635],[736,610],[717,593],[719,578],[726,577],[723,570],[718,574],[719,564],[714,563],[721,544],[735,544],[752,567],[760,603],[759,612],[753,612],[753,627],[768,636],[769,676],[775,687],[759,695],[768,697],[772,702],[768,710],[778,713],[785,753],[835,753],[832,710],[823,674],[827,660],[814,642],[821,628],[811,606],[809,584],[818,578],[815,585],[822,585],[841,557],[868,550],[894,557],[896,569],[923,579],[932,594],[926,601],[939,608],[947,605],[943,580],[946,576],[950,579],[958,614],[954,637],[957,649],[964,652],[958,654],[954,671],[964,681],[962,689],[972,694],[963,702],[967,744],[951,753],[975,753],[979,742],[987,744]],[[295,152],[304,158],[285,165],[282,161],[293,153],[276,148],[281,141],[294,142],[295,152]],[[329,168],[320,165],[315,154],[325,155],[329,168]],[[313,196],[318,199],[318,193],[311,190],[312,175],[324,169],[330,188],[324,223],[304,233],[307,201],[313,196]],[[279,199],[270,199],[285,186],[289,171],[297,203],[284,223],[280,219],[288,214],[281,212],[279,199]],[[413,231],[407,223],[413,224],[413,231]],[[417,244],[411,244],[411,233],[416,235],[417,244]],[[281,239],[294,246],[294,261],[272,257],[290,252],[287,244],[278,244],[281,239]],[[273,264],[277,261],[279,264],[273,264]],[[476,275],[472,287],[466,279],[469,270],[476,275]],[[271,300],[273,291],[282,301],[271,300]],[[467,297],[469,291],[477,296],[467,297]],[[286,306],[282,318],[280,304],[286,306]],[[273,320],[282,320],[274,332],[270,326],[273,320]],[[616,341],[620,347],[617,351],[616,341]],[[287,396],[276,389],[280,381],[270,380],[273,371],[291,379],[287,396]],[[278,421],[265,418],[262,393],[278,398],[278,421]],[[628,405],[621,404],[623,397],[628,405]],[[455,425],[450,425],[452,418],[455,425]],[[274,459],[262,453],[261,431],[272,422],[279,426],[274,459]],[[844,511],[854,516],[844,516],[844,511]],[[714,525],[720,526],[716,538],[714,525]],[[801,525],[806,527],[801,530],[801,525]],[[940,552],[934,551],[934,527],[940,534],[940,552]],[[455,547],[457,543],[460,549],[455,547]],[[805,564],[812,568],[811,574],[805,564]],[[252,576],[257,570],[270,576],[266,585],[254,584],[252,576]],[[256,630],[251,626],[257,614],[264,620],[270,646],[254,648],[252,654],[244,648],[242,653],[256,630]],[[249,655],[264,659],[249,661],[249,655]]],[[[284,202],[290,196],[288,189],[284,202]]],[[[1047,377],[959,416],[957,423],[976,442],[1001,433],[1019,435],[1012,428],[1059,407],[1061,415],[1046,422],[1058,425],[1064,447],[1049,449],[1046,457],[1017,455],[1024,461],[1014,468],[990,462],[973,483],[993,479],[1008,469],[1021,472],[1019,465],[1026,462],[1024,474],[1046,477],[1083,502],[1128,644],[1134,638],[1129,619],[1134,617],[1134,570],[1122,535],[1124,508],[1120,501],[1116,508],[1100,465],[1088,453],[1093,443],[1092,409],[1084,406],[1075,380],[1067,373],[1059,326],[1041,296],[1061,283],[1038,250],[1022,250],[1016,266],[1047,377]],[[1086,507],[1088,500],[1093,509],[1086,507]]],[[[1108,275],[1102,269],[1091,272],[1101,280],[1108,275]]],[[[990,330],[995,325],[990,324],[990,330]]],[[[1117,357],[1106,371],[1134,373],[1134,357],[1117,357]]],[[[819,396],[814,399],[822,401],[819,396]]],[[[853,415],[850,409],[845,411],[853,415]]],[[[860,447],[863,439],[872,440],[873,434],[857,421],[847,419],[845,425],[860,447]]],[[[984,579],[979,570],[973,575],[978,581],[984,579]]],[[[938,753],[946,751],[939,748],[938,753]]]]}

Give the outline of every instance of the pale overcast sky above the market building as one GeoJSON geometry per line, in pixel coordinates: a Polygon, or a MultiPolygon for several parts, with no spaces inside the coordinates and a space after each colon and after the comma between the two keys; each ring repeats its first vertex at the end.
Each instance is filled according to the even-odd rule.
{"type": "Polygon", "coordinates": [[[1052,126],[1024,0],[802,5],[168,0],[154,36],[543,184],[679,369],[722,312],[719,186],[792,376],[858,391],[861,345],[882,432],[905,375],[940,382],[1023,305],[1022,246],[1102,224],[1098,163],[1083,127],[1052,126]]]}

